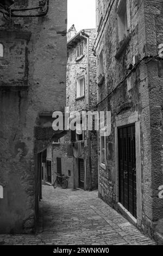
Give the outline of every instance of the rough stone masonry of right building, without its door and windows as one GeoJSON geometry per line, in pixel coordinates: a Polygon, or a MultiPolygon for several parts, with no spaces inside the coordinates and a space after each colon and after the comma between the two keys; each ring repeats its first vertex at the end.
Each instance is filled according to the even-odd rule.
{"type": "MultiPolygon", "coordinates": [[[[117,208],[116,121],[137,115],[137,121],[140,121],[140,191],[143,194],[139,213],[141,218],[138,217],[137,223],[141,223],[141,228],[153,235],[152,223],[162,218],[163,209],[162,201],[158,198],[158,187],[163,183],[160,76],[162,66],[156,61],[147,65],[147,60],[144,60],[118,89],[115,88],[126,76],[127,66],[132,63],[133,56],[138,56],[140,60],[148,54],[155,56],[158,53],[158,44],[162,42],[162,3],[127,0],[128,38],[120,43],[117,35],[117,3],[118,1],[115,1],[109,9],[108,21],[103,33],[103,26],[97,33],[95,45],[97,58],[102,49],[104,53],[105,80],[98,88],[98,100],[103,100],[112,92],[99,105],[99,111],[111,111],[111,135],[106,138],[106,166],[103,168],[99,164],[99,196],[117,208]]],[[[97,14],[102,13],[104,17],[108,4],[108,1],[97,1],[97,14]]],[[[137,197],[140,197],[139,192],[137,197]]]]}

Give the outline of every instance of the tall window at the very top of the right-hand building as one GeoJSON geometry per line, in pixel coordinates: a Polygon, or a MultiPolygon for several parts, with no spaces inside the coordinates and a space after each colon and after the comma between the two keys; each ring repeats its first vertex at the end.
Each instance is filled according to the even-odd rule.
{"type": "Polygon", "coordinates": [[[126,0],[119,1],[117,7],[117,21],[118,21],[118,39],[122,41],[127,37],[127,4],[126,0]]]}

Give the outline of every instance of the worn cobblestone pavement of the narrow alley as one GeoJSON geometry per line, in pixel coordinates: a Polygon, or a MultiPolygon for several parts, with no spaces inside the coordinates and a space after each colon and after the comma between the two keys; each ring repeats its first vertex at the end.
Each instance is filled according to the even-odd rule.
{"type": "Polygon", "coordinates": [[[43,186],[35,235],[0,235],[0,245],[154,245],[97,191],[43,186]]]}

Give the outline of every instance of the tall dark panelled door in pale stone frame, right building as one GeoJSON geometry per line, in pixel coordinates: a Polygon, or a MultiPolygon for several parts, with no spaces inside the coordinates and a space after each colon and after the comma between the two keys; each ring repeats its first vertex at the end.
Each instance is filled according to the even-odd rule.
{"type": "Polygon", "coordinates": [[[135,125],[118,130],[120,203],[136,218],[135,125]]]}

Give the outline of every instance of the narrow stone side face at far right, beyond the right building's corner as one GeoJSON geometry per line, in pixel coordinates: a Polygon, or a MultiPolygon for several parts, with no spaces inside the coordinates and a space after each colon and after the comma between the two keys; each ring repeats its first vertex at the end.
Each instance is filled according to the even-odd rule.
{"type": "MultiPolygon", "coordinates": [[[[163,43],[163,3],[145,1],[146,52],[155,56],[163,43]]],[[[158,198],[158,188],[163,184],[162,161],[162,106],[163,76],[162,63],[153,61],[147,66],[151,134],[151,173],[143,173],[143,214],[146,231],[163,234],[163,200],[158,198]]]]}

